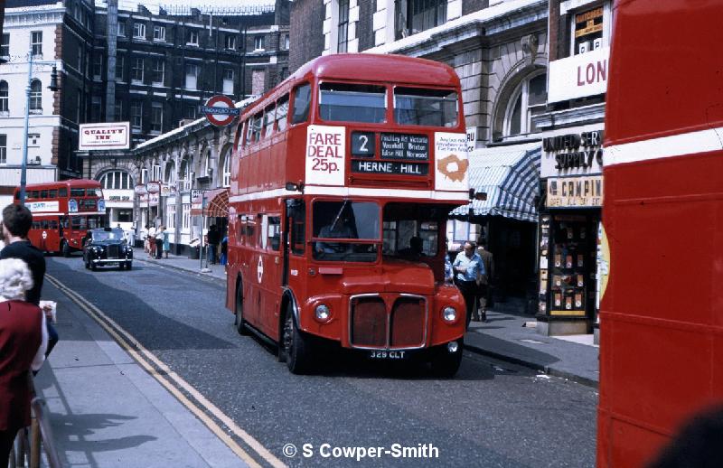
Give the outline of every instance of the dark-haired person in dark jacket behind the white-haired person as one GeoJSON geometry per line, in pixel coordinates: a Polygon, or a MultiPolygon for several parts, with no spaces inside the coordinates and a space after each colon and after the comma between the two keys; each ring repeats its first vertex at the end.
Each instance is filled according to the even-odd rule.
{"type": "MultiPolygon", "coordinates": [[[[28,231],[32,226],[33,213],[27,207],[15,204],[5,207],[2,225],[5,248],[0,251],[0,259],[20,258],[28,265],[33,275],[33,287],[25,292],[25,300],[31,304],[39,305],[42,280],[45,277],[45,257],[28,240],[28,231]]],[[[48,319],[52,318],[50,309],[43,308],[43,312],[48,319]]],[[[45,351],[45,355],[48,356],[58,342],[59,337],[50,320],[46,322],[46,326],[48,329],[48,350],[45,351]]]]}

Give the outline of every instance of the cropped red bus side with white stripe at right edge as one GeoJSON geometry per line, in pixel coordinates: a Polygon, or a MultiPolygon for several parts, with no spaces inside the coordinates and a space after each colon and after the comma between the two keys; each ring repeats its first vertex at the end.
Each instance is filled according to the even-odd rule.
{"type": "MultiPolygon", "coordinates": [[[[723,3],[625,0],[613,11],[600,467],[644,466],[691,415],[723,403],[723,60],[712,45],[723,3]]],[[[679,447],[704,456],[719,435],[679,447]]]]}

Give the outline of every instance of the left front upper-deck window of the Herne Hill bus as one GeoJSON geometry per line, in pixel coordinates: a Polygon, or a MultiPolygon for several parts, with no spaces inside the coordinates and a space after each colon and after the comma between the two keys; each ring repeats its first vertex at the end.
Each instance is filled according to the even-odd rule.
{"type": "Polygon", "coordinates": [[[333,122],[382,123],[387,108],[383,86],[322,83],[319,89],[319,115],[333,122]]]}

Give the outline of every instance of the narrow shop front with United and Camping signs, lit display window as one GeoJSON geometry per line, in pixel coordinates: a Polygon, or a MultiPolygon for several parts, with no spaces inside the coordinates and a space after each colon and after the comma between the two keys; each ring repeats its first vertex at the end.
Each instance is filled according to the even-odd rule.
{"type": "Polygon", "coordinates": [[[545,203],[539,224],[538,332],[593,332],[602,203],[600,129],[543,139],[545,203]]]}

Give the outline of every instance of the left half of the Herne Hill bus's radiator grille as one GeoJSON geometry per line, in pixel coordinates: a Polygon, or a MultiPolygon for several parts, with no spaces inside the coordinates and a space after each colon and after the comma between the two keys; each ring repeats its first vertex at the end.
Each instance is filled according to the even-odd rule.
{"type": "Polygon", "coordinates": [[[352,346],[383,348],[387,345],[387,307],[380,297],[352,300],[352,346]]]}

